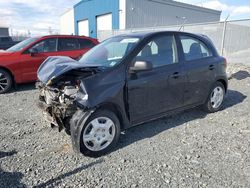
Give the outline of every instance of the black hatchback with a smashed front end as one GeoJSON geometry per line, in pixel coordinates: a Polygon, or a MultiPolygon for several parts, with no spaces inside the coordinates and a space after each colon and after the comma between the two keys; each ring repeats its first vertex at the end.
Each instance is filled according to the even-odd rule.
{"type": "Polygon", "coordinates": [[[39,107],[71,135],[76,151],[100,156],[134,125],[202,106],[220,110],[226,60],[211,40],[184,32],[120,35],[80,60],[50,57],[40,67],[39,107]]]}

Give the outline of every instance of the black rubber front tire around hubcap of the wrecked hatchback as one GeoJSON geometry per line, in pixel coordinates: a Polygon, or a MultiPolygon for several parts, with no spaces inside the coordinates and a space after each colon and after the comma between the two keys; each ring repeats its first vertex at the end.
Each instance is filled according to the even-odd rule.
{"type": "MultiPolygon", "coordinates": [[[[110,130],[110,129],[109,129],[110,130]]],[[[107,110],[98,110],[96,112],[94,112],[86,121],[86,123],[83,125],[81,131],[81,136],[80,136],[80,152],[85,155],[85,156],[89,156],[89,157],[99,157],[102,156],[108,152],[110,152],[114,146],[117,144],[119,137],[120,137],[120,121],[117,118],[117,116],[115,115],[115,113],[111,112],[111,111],[107,111],[107,110]],[[110,144],[99,151],[93,151],[91,149],[89,149],[88,147],[90,146],[86,146],[83,140],[83,134],[86,128],[88,128],[88,125],[90,124],[90,122],[92,122],[92,120],[95,120],[96,118],[101,118],[101,117],[105,117],[108,118],[110,120],[112,120],[115,130],[114,130],[114,138],[113,140],[110,142],[110,144]]],[[[90,142],[91,143],[91,142],[90,142]]]]}

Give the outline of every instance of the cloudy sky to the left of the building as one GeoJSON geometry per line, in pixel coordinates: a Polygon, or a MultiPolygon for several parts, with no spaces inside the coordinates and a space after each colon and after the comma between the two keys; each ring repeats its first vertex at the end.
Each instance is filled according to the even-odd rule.
{"type": "Polygon", "coordinates": [[[0,0],[0,26],[9,27],[14,35],[59,32],[60,16],[77,2],[79,0],[0,0]]]}

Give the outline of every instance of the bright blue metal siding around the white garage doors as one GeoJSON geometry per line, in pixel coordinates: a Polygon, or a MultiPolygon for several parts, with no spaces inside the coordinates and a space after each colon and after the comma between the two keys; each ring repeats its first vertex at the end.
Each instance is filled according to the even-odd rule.
{"type": "Polygon", "coordinates": [[[119,0],[82,0],[74,6],[74,12],[76,34],[78,34],[77,22],[88,19],[89,34],[96,38],[96,17],[108,13],[112,13],[112,29],[119,29],[119,0]]]}

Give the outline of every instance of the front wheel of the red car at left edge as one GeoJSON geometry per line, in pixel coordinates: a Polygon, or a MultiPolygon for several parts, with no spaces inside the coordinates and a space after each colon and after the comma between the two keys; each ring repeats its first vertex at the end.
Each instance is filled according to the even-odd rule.
{"type": "Polygon", "coordinates": [[[13,80],[11,75],[3,70],[0,69],[0,94],[7,93],[13,85],[13,80]]]}

